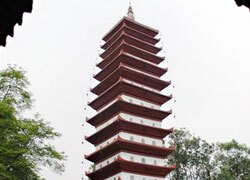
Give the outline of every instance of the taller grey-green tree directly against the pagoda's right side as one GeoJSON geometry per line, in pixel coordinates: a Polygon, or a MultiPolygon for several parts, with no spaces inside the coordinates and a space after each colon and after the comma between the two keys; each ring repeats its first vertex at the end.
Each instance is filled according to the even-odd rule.
{"type": "Polygon", "coordinates": [[[195,137],[184,128],[175,130],[169,138],[169,144],[176,147],[176,151],[167,159],[168,164],[176,164],[176,170],[170,174],[170,179],[210,179],[213,145],[195,137]]]}

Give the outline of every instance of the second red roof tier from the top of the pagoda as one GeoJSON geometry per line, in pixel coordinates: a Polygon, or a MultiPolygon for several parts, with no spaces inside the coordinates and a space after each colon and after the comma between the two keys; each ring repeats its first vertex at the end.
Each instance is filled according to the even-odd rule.
{"type": "Polygon", "coordinates": [[[110,45],[118,38],[121,34],[126,33],[134,38],[137,39],[143,39],[143,41],[155,45],[160,41],[160,39],[153,38],[147,34],[144,34],[140,31],[137,31],[135,29],[131,29],[130,27],[126,26],[125,24],[122,25],[122,27],[107,41],[105,42],[101,48],[107,49],[110,47],[110,45]]]}

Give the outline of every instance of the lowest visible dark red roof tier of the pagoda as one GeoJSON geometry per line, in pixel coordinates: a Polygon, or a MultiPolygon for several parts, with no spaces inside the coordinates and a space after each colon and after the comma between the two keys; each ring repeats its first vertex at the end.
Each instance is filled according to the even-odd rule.
{"type": "Polygon", "coordinates": [[[86,173],[86,175],[90,179],[98,180],[98,179],[108,178],[122,171],[126,171],[130,173],[164,178],[175,168],[176,168],[175,165],[170,167],[165,167],[165,166],[156,166],[156,165],[127,161],[118,156],[118,158],[111,164],[106,165],[101,169],[98,169],[92,173],[86,173]]]}

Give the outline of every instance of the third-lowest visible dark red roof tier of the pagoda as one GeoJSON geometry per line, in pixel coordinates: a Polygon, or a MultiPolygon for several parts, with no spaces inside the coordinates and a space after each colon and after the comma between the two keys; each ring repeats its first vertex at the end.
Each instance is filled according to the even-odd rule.
{"type": "Polygon", "coordinates": [[[163,139],[168,134],[173,132],[173,129],[162,129],[152,126],[147,126],[144,124],[138,124],[134,122],[127,121],[122,117],[117,117],[117,119],[103,128],[102,130],[96,132],[95,134],[86,137],[85,139],[92,143],[93,145],[98,145],[112,136],[118,134],[119,132],[128,132],[132,134],[147,136],[151,138],[163,139]]]}

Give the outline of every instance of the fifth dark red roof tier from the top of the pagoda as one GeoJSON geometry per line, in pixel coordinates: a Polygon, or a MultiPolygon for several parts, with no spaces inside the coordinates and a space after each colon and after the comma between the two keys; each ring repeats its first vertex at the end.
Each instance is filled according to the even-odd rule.
{"type": "Polygon", "coordinates": [[[152,74],[154,76],[161,77],[167,72],[167,68],[161,68],[156,65],[147,63],[140,59],[137,59],[125,52],[121,52],[113,61],[111,61],[104,69],[94,76],[98,81],[102,81],[109,74],[111,74],[120,64],[130,66],[135,69],[144,71],[145,73],[152,74]]]}

